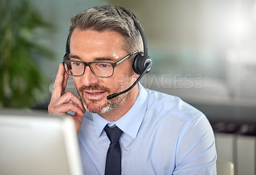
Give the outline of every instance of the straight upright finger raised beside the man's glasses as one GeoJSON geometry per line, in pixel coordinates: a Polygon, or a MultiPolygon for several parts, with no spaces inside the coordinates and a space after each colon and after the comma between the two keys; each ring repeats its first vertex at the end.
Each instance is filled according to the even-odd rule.
{"type": "Polygon", "coordinates": [[[63,81],[64,81],[65,70],[63,65],[59,65],[59,69],[56,75],[56,79],[54,82],[54,88],[52,90],[52,98],[60,98],[61,95],[65,93],[65,89],[63,89],[63,81]]]}

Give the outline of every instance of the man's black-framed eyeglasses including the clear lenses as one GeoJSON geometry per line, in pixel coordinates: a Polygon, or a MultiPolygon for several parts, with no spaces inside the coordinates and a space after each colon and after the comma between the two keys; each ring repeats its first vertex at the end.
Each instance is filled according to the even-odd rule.
{"type": "Polygon", "coordinates": [[[86,66],[90,67],[90,70],[97,77],[111,77],[114,73],[114,68],[125,61],[125,59],[137,54],[138,51],[132,52],[131,54],[120,59],[116,63],[109,62],[83,62],[83,61],[71,61],[69,55],[63,60],[63,66],[68,75],[79,77],[84,74],[86,66]]]}

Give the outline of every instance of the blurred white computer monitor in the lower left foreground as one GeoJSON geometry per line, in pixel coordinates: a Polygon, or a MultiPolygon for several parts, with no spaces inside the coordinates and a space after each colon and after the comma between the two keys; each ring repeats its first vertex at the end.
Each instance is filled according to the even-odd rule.
{"type": "Polygon", "coordinates": [[[73,119],[0,110],[0,174],[83,174],[73,119]]]}

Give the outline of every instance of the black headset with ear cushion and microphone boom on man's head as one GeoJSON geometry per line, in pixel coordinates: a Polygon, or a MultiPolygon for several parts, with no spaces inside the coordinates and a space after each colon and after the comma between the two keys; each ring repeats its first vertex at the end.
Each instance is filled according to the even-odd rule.
{"type": "MultiPolygon", "coordinates": [[[[152,59],[150,56],[148,56],[148,44],[147,44],[147,39],[146,36],[143,32],[142,27],[140,26],[139,22],[137,20],[133,20],[134,25],[136,26],[136,28],[138,29],[138,31],[140,32],[141,35],[141,39],[143,42],[143,52],[139,52],[138,54],[136,54],[136,56],[134,57],[134,61],[132,64],[132,68],[134,70],[135,73],[137,73],[139,76],[136,79],[136,81],[132,84],[132,86],[130,86],[129,88],[125,89],[124,91],[121,91],[120,93],[113,93],[109,96],[107,96],[108,100],[111,100],[112,98],[115,98],[118,95],[122,95],[123,93],[126,93],[127,91],[130,91],[139,81],[140,79],[143,77],[143,75],[145,75],[145,73],[150,72],[151,68],[152,68],[152,59]]],[[[70,33],[68,34],[68,38],[67,38],[67,43],[66,43],[66,53],[63,57],[63,61],[66,59],[66,57],[68,56],[68,54],[70,54],[70,45],[69,45],[69,38],[70,38],[70,33]]],[[[68,69],[71,69],[70,65],[67,65],[68,69]]]]}

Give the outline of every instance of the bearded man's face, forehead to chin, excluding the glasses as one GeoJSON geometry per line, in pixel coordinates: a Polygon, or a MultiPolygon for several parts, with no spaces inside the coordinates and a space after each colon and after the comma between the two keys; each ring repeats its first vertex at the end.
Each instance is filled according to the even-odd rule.
{"type": "MultiPolygon", "coordinates": [[[[130,53],[125,52],[122,36],[116,32],[102,32],[75,29],[70,38],[70,59],[84,62],[106,61],[115,63],[130,53]]],[[[118,93],[131,86],[137,75],[129,60],[115,67],[112,77],[95,76],[86,66],[84,75],[73,77],[77,92],[89,112],[104,113],[119,104],[132,103],[132,91],[107,100],[106,96],[118,93]]]]}

